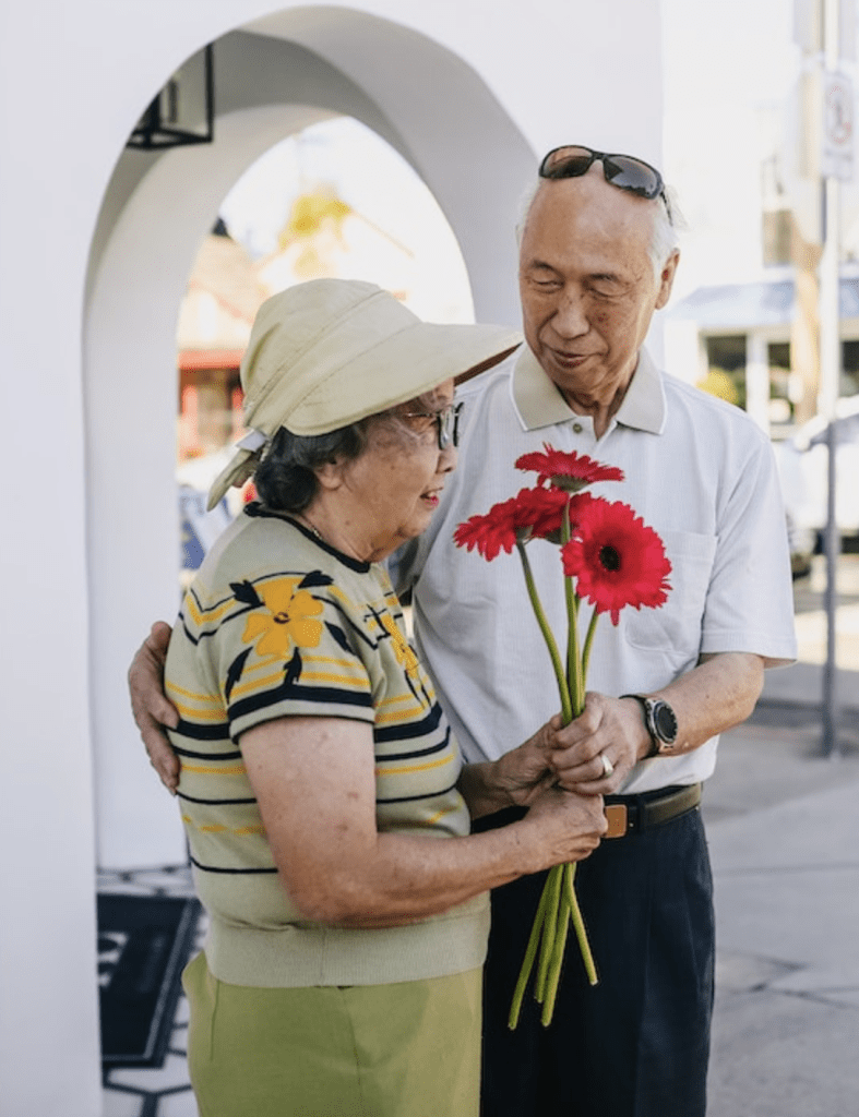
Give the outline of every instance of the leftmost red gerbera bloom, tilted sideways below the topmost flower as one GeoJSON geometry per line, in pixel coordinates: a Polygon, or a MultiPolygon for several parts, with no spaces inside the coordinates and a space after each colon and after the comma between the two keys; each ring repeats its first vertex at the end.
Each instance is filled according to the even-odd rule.
{"type": "MultiPolygon", "coordinates": [[[[521,489],[509,500],[493,505],[485,516],[471,516],[461,523],[454,533],[454,542],[468,551],[477,548],[487,561],[495,558],[499,551],[509,553],[516,543],[531,538],[559,543],[564,506],[569,500],[561,489],[521,489]]],[[[572,507],[576,506],[576,500],[571,502],[572,507]]]]}

